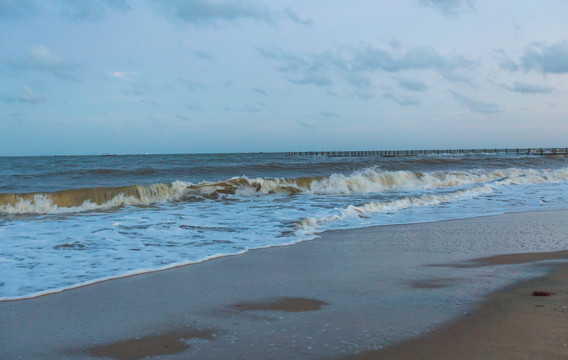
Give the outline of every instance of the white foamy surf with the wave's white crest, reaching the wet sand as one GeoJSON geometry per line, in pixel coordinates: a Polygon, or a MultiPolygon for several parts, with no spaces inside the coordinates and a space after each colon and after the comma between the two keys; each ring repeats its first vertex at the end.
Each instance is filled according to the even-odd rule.
{"type": "MultiPolygon", "coordinates": [[[[31,205],[44,213],[120,208],[2,217],[0,296],[39,296],[219,254],[290,244],[327,229],[554,208],[568,203],[567,178],[566,168],[424,173],[370,168],[313,179],[237,177],[146,186],[139,198],[114,196],[101,205],[88,202],[74,209],[54,207],[38,195],[31,205]],[[209,196],[219,190],[218,196],[209,196]],[[192,200],[200,194],[207,200],[192,200]],[[176,199],[180,201],[170,202],[176,199]],[[159,206],[126,206],[156,202],[159,206]]],[[[549,251],[565,248],[565,243],[522,246],[549,251]]]]}

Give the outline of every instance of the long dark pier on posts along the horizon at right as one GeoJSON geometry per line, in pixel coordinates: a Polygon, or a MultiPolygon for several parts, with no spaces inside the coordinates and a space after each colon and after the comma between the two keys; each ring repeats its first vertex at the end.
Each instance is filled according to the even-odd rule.
{"type": "Polygon", "coordinates": [[[367,150],[367,151],[295,151],[287,156],[329,156],[329,157],[398,157],[419,155],[457,154],[517,154],[517,155],[568,155],[568,148],[513,148],[513,149],[459,149],[459,150],[367,150]]]}

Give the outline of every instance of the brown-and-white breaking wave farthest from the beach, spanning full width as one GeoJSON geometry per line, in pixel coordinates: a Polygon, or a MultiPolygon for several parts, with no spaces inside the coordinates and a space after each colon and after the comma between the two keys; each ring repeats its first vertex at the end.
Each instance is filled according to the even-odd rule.
{"type": "Polygon", "coordinates": [[[383,171],[366,168],[350,174],[295,179],[233,177],[219,182],[132,185],[69,189],[45,193],[0,194],[0,214],[49,214],[107,210],[168,201],[200,201],[229,195],[348,195],[386,191],[454,188],[502,181],[504,185],[563,182],[568,168],[536,170],[507,168],[467,171],[383,171]]]}

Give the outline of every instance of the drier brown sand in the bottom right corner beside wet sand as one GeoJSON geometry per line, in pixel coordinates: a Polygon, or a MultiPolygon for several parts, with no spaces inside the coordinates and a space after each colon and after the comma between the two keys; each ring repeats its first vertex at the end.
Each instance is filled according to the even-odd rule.
{"type": "MultiPolygon", "coordinates": [[[[548,254],[549,256],[552,254],[548,254]]],[[[565,253],[559,253],[566,256],[565,253]]],[[[546,258],[546,256],[544,256],[546,258]]],[[[532,254],[503,260],[538,261],[532,254]]],[[[497,258],[484,259],[493,263],[497,258]]],[[[567,359],[568,264],[491,294],[471,314],[430,334],[342,360],[567,359]],[[535,296],[544,295],[544,296],[535,296]]]]}

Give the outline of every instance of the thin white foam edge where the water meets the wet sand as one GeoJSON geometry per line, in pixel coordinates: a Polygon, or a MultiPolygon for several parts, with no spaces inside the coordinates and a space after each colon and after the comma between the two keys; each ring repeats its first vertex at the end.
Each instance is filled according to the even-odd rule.
{"type": "MultiPolygon", "coordinates": [[[[477,215],[477,216],[472,216],[472,217],[464,217],[464,218],[456,218],[456,219],[441,219],[441,220],[435,220],[435,221],[410,222],[410,223],[400,223],[400,224],[395,223],[395,224],[385,224],[385,225],[370,225],[370,226],[361,226],[361,227],[353,227],[353,228],[345,228],[345,229],[324,230],[324,231],[321,231],[321,232],[315,232],[315,233],[311,234],[310,236],[313,236],[312,238],[295,240],[291,243],[267,245],[267,246],[263,246],[263,247],[243,250],[241,252],[237,252],[237,253],[234,253],[234,254],[214,254],[214,255],[208,256],[208,257],[201,259],[201,260],[190,261],[190,262],[177,262],[177,263],[172,263],[170,265],[165,265],[164,267],[155,268],[155,269],[133,270],[133,271],[121,274],[121,275],[108,276],[108,277],[103,277],[103,278],[99,278],[99,279],[89,280],[89,281],[78,283],[78,284],[75,284],[75,285],[69,285],[69,286],[65,286],[65,287],[61,287],[61,288],[55,288],[55,289],[51,289],[51,290],[43,290],[43,291],[32,293],[32,294],[29,294],[29,295],[0,297],[0,303],[10,302],[10,301],[21,301],[21,300],[35,299],[35,298],[39,298],[39,297],[43,297],[43,296],[49,296],[49,295],[58,294],[58,293],[61,293],[61,292],[71,291],[71,290],[86,287],[86,286],[92,286],[92,285],[96,285],[96,284],[107,282],[107,281],[120,280],[120,279],[124,279],[124,278],[129,278],[129,277],[132,277],[132,276],[144,276],[146,274],[151,274],[151,273],[155,273],[155,272],[169,271],[169,270],[177,269],[177,268],[180,268],[180,267],[198,265],[198,264],[202,264],[202,263],[207,262],[207,261],[212,261],[212,260],[214,261],[216,259],[221,259],[221,258],[225,258],[225,257],[242,256],[242,255],[247,254],[247,253],[252,252],[252,251],[258,251],[258,250],[264,250],[264,249],[270,249],[270,248],[294,246],[294,245],[297,245],[297,244],[300,244],[300,243],[303,243],[303,242],[314,241],[314,240],[317,241],[317,240],[321,239],[322,237],[326,236],[325,234],[335,233],[335,232],[344,232],[344,231],[350,232],[350,231],[357,231],[357,230],[361,230],[361,229],[375,229],[375,228],[390,227],[390,226],[405,226],[405,225],[416,225],[416,224],[443,223],[443,222],[461,221],[461,220],[468,220],[468,219],[482,219],[482,218],[491,218],[491,217],[515,215],[515,214],[546,213],[546,212],[554,213],[554,212],[558,212],[558,211],[567,211],[568,212],[568,209],[536,210],[536,211],[532,210],[532,211],[526,211],[526,212],[508,212],[508,213],[502,213],[502,214],[477,215]]],[[[567,249],[568,249],[568,245],[567,245],[567,249]]],[[[520,254],[520,253],[511,253],[511,254],[517,255],[517,254],[520,254]]],[[[496,256],[501,256],[501,255],[507,255],[507,254],[498,254],[496,256]]]]}

